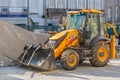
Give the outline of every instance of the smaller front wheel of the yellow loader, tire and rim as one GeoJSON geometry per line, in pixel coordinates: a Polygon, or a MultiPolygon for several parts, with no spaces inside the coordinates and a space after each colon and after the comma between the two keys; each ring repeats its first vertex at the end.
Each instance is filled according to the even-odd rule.
{"type": "Polygon", "coordinates": [[[67,49],[63,52],[60,61],[64,69],[74,70],[79,65],[79,54],[75,50],[67,49]]]}

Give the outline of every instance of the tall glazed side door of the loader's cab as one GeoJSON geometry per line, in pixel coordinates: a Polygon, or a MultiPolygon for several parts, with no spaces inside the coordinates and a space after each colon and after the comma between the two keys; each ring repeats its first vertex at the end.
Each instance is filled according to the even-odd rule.
{"type": "Polygon", "coordinates": [[[85,46],[89,46],[91,40],[99,35],[99,14],[89,13],[85,28],[85,46]]]}

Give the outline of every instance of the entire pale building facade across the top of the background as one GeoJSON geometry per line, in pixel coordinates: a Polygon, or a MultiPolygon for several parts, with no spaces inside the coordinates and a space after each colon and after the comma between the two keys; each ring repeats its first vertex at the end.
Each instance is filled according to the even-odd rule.
{"type": "MultiPolygon", "coordinates": [[[[0,19],[27,23],[28,0],[0,0],[0,19]]],[[[39,25],[56,23],[68,10],[99,9],[107,21],[120,22],[120,0],[29,0],[30,18],[39,25]]]]}

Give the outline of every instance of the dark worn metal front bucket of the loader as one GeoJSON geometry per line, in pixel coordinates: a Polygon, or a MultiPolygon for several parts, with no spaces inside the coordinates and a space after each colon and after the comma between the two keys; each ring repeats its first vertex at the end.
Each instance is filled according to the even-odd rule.
{"type": "Polygon", "coordinates": [[[18,60],[24,66],[40,70],[54,70],[56,68],[54,53],[50,48],[28,47],[18,60]]]}

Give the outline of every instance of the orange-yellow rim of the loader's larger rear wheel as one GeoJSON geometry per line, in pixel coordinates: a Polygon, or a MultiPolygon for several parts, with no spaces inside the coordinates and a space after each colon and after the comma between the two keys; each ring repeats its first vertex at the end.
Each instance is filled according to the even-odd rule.
{"type": "Polygon", "coordinates": [[[107,57],[108,57],[108,52],[107,52],[106,48],[100,48],[98,51],[99,60],[104,62],[107,57]]]}

